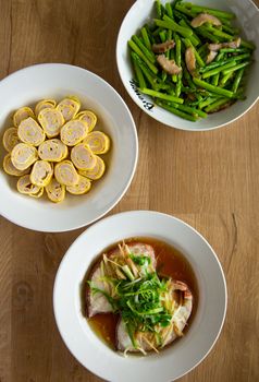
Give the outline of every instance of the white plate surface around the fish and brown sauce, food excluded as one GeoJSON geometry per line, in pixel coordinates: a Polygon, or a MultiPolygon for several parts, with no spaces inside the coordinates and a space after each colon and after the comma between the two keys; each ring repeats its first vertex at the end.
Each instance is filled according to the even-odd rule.
{"type": "Polygon", "coordinates": [[[125,212],[96,223],[71,246],[57,273],[53,307],[67,348],[95,374],[112,382],[169,382],[196,367],[214,345],[225,318],[226,285],[214,251],[194,228],[157,212],[125,212]],[[181,341],[159,355],[124,358],[99,339],[82,314],[81,283],[107,247],[138,236],[166,241],[184,253],[198,280],[199,302],[181,341]]]}

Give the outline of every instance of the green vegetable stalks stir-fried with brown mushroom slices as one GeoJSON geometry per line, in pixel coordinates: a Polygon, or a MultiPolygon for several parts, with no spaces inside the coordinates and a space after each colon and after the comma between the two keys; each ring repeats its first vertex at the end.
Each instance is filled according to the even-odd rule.
{"type": "Polygon", "coordinates": [[[231,12],[174,0],[128,40],[135,81],[155,104],[189,121],[245,99],[255,45],[231,12]]]}

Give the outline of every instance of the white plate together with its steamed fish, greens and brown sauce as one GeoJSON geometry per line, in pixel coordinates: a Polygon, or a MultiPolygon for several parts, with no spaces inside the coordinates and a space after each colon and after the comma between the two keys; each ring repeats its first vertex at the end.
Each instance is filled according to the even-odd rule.
{"type": "Polygon", "coordinates": [[[95,374],[168,382],[213,347],[226,284],[193,227],[158,212],[125,212],[96,223],[67,250],[53,309],[65,345],[95,374]]]}

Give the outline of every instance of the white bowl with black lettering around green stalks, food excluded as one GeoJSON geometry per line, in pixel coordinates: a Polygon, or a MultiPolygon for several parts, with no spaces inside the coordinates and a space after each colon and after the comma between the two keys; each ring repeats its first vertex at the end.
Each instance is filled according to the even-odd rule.
{"type": "MultiPolygon", "coordinates": [[[[161,0],[165,3],[166,0],[161,0]]],[[[237,16],[237,25],[244,31],[244,37],[252,40],[257,47],[259,41],[259,10],[251,0],[211,0],[208,4],[207,0],[192,0],[193,3],[199,5],[209,5],[220,10],[230,10],[237,16]]],[[[133,70],[128,53],[127,40],[132,35],[136,34],[139,28],[155,16],[155,1],[137,0],[125,15],[121,25],[118,41],[116,41],[116,63],[121,80],[132,97],[132,99],[151,118],[164,123],[171,128],[202,131],[212,130],[233,122],[248,111],[257,102],[259,95],[259,49],[257,48],[254,58],[255,62],[249,70],[249,77],[247,83],[245,100],[238,100],[230,108],[220,112],[209,115],[205,119],[197,122],[190,122],[182,119],[173,114],[155,106],[152,99],[136,91],[136,85],[133,83],[133,70]]]]}

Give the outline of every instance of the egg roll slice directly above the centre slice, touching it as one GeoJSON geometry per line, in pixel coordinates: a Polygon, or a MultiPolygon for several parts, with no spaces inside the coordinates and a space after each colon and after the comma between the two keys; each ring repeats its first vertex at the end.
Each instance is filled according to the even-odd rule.
{"type": "Polygon", "coordinates": [[[61,127],[64,124],[62,112],[53,108],[42,109],[38,115],[38,121],[48,138],[58,136],[61,127]]]}

